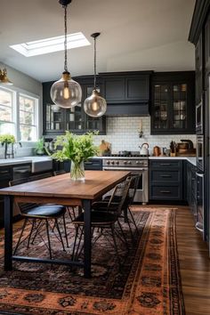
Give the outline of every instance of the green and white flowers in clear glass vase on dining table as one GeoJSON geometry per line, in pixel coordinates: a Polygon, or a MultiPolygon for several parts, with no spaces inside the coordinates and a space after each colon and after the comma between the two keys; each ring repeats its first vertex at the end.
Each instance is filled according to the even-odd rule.
{"type": "Polygon", "coordinates": [[[84,162],[99,152],[99,148],[93,143],[95,134],[97,132],[77,135],[66,131],[64,135],[58,136],[54,142],[54,149],[57,150],[52,154],[52,158],[61,162],[71,161],[70,176],[72,180],[85,180],[84,162]]]}

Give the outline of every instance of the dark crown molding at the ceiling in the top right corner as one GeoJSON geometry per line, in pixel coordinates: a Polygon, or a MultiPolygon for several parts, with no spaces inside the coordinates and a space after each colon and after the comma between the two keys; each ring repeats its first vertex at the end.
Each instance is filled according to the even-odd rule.
{"type": "Polygon", "coordinates": [[[197,0],[191,20],[189,41],[192,44],[198,43],[198,37],[202,31],[206,15],[210,10],[210,0],[197,0]]]}

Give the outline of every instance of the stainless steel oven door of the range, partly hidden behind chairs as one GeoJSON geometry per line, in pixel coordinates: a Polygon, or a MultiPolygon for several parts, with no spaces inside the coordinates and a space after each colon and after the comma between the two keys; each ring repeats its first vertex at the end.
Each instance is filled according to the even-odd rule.
{"type": "Polygon", "coordinates": [[[148,168],[139,167],[115,167],[103,166],[104,171],[130,171],[131,175],[139,175],[140,181],[135,192],[133,201],[146,204],[149,201],[149,183],[148,183],[148,168]]]}

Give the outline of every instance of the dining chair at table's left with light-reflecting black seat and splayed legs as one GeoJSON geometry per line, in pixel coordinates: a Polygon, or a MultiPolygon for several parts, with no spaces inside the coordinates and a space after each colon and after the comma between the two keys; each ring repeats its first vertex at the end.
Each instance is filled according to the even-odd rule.
{"type": "MultiPolygon", "coordinates": [[[[29,180],[31,181],[31,178],[29,180]]],[[[28,182],[28,178],[22,178],[19,180],[11,181],[11,182],[9,182],[9,186],[18,185],[18,184],[25,183],[25,182],[28,182]]],[[[55,227],[58,231],[58,234],[59,234],[59,238],[61,240],[62,248],[65,251],[65,247],[64,247],[63,240],[61,237],[61,230],[60,230],[60,227],[58,224],[58,218],[64,217],[64,214],[66,212],[65,206],[53,205],[53,204],[37,205],[34,203],[18,203],[18,202],[15,202],[14,206],[16,206],[16,208],[19,210],[20,215],[24,218],[24,222],[23,222],[23,225],[22,225],[22,228],[20,231],[20,237],[19,237],[18,242],[14,248],[13,254],[15,254],[17,252],[17,249],[20,246],[23,232],[26,229],[28,222],[32,225],[30,232],[27,236],[28,247],[29,247],[30,239],[32,238],[32,234],[34,233],[33,240],[31,243],[34,242],[37,235],[39,235],[41,237],[40,231],[42,230],[43,226],[45,225],[48,246],[46,245],[45,242],[44,242],[44,245],[48,248],[50,258],[52,259],[52,246],[51,246],[51,241],[50,241],[49,227],[50,227],[50,222],[54,222],[54,225],[55,225],[55,227]]],[[[26,238],[24,238],[24,240],[25,239],[26,238]]]]}

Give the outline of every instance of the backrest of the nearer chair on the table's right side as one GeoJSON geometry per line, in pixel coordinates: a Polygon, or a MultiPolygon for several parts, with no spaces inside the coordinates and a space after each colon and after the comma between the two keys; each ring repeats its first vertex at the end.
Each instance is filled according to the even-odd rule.
{"type": "Polygon", "coordinates": [[[128,197],[130,182],[125,181],[117,184],[109,199],[108,210],[115,209],[117,216],[120,216],[125,208],[126,199],[128,197]]]}

